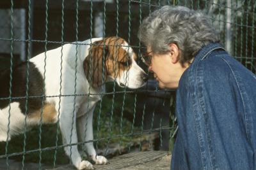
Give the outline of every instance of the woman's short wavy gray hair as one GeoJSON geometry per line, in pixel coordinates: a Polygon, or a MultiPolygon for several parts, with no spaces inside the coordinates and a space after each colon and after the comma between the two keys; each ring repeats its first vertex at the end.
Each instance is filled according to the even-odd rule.
{"type": "Polygon", "coordinates": [[[166,53],[170,43],[175,43],[182,66],[203,46],[220,41],[209,18],[183,6],[163,6],[152,12],[140,25],[138,38],[154,53],[166,53]]]}

